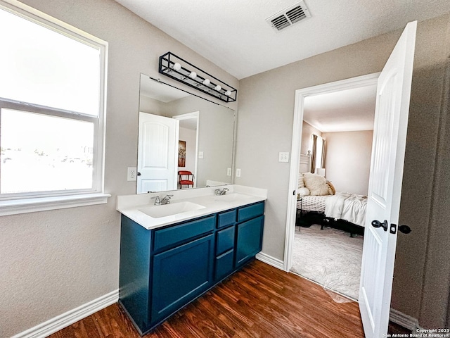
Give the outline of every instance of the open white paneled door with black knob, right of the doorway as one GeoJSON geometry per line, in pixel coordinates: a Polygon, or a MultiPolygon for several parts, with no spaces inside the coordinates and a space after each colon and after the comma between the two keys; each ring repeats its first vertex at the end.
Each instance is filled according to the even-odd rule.
{"type": "Polygon", "coordinates": [[[378,78],[359,288],[366,338],[383,337],[389,323],[416,27],[406,25],[378,78]]]}

